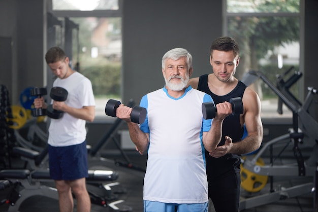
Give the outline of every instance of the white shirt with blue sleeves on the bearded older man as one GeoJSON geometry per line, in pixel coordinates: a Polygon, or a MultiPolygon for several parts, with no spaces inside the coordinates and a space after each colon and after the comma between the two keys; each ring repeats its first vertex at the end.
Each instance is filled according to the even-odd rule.
{"type": "Polygon", "coordinates": [[[202,103],[208,101],[211,96],[190,86],[177,99],[166,88],[142,98],[140,106],[147,109],[147,117],[140,128],[150,135],[144,200],[208,202],[202,143],[203,131],[211,128],[211,120],[202,115],[202,103]]]}

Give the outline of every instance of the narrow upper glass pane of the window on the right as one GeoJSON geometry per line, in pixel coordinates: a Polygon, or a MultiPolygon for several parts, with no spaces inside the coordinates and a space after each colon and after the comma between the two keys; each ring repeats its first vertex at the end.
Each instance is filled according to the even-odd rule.
{"type": "Polygon", "coordinates": [[[228,0],[228,13],[299,13],[299,0],[228,0]]]}

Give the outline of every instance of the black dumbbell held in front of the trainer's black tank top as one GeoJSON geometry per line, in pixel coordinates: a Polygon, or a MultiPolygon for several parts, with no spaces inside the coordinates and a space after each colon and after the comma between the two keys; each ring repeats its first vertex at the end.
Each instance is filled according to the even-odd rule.
{"type": "MultiPolygon", "coordinates": [[[[241,97],[235,97],[230,99],[232,104],[232,115],[243,113],[243,101],[241,97]]],[[[213,119],[216,114],[216,107],[213,102],[202,103],[202,114],[204,119],[213,119]]]]}

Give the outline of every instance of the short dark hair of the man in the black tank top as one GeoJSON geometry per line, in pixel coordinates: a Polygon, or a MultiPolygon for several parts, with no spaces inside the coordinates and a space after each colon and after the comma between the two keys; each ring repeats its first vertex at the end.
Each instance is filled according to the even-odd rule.
{"type": "Polygon", "coordinates": [[[210,54],[212,56],[213,50],[218,50],[222,52],[233,51],[236,56],[239,56],[240,49],[237,42],[230,37],[219,37],[214,40],[210,47],[210,54]]]}

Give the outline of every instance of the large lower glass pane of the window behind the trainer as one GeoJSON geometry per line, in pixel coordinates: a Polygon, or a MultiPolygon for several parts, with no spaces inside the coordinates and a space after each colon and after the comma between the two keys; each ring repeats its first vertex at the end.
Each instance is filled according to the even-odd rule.
{"type": "MultiPolygon", "coordinates": [[[[275,87],[280,78],[287,81],[294,72],[299,71],[299,17],[232,16],[227,20],[228,36],[240,46],[240,63],[236,73],[238,79],[242,79],[248,70],[258,70],[275,87]],[[290,68],[293,71],[286,73],[290,68]]],[[[289,88],[296,98],[298,84],[299,81],[296,81],[289,88]]],[[[278,96],[268,84],[259,79],[251,87],[265,104],[262,117],[282,117],[276,112],[278,96]]],[[[292,116],[285,105],[283,116],[292,116]]]]}

